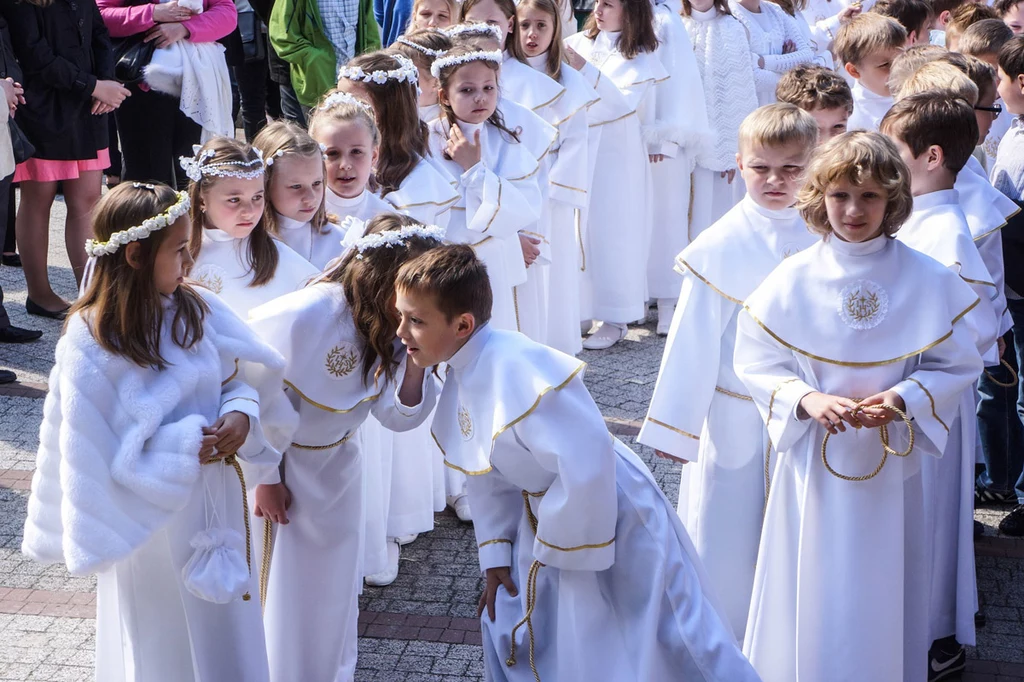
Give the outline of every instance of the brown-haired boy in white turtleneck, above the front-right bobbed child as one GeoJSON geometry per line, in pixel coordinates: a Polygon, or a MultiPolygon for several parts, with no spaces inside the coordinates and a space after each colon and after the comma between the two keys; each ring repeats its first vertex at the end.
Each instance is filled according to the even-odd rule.
{"type": "Polygon", "coordinates": [[[889,70],[906,45],[906,31],[896,19],[867,12],[855,16],[839,30],[834,50],[837,61],[852,78],[851,130],[878,130],[879,122],[892,106],[889,70]]]}

